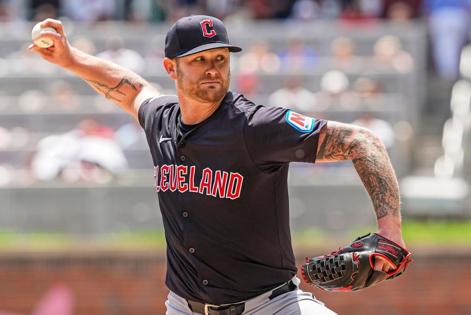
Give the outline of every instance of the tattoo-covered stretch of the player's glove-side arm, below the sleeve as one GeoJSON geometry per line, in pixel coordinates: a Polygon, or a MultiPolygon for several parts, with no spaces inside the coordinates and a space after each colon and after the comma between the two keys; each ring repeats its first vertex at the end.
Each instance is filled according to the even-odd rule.
{"type": "Polygon", "coordinates": [[[318,146],[316,161],[352,160],[373,202],[376,219],[400,217],[399,185],[386,148],[377,136],[361,127],[329,121],[321,131],[318,146]]]}

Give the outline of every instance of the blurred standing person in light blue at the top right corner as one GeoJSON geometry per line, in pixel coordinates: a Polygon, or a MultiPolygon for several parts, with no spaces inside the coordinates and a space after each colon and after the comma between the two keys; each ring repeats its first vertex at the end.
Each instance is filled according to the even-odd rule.
{"type": "Polygon", "coordinates": [[[458,77],[459,57],[469,31],[469,0],[425,0],[429,12],[433,60],[438,75],[447,80],[458,77]]]}

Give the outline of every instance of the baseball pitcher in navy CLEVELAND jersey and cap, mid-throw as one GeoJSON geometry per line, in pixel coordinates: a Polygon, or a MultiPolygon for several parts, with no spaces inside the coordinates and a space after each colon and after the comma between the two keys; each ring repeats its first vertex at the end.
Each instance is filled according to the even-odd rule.
{"type": "MultiPolygon", "coordinates": [[[[288,165],[352,160],[373,202],[378,233],[404,246],[397,180],[371,131],[265,107],[228,91],[224,24],[180,19],[163,66],[177,95],[71,47],[47,19],[50,48],[29,50],[72,71],[130,113],[147,135],[167,241],[167,315],[335,314],[298,288],[288,214],[288,165]]],[[[156,65],[157,66],[157,65],[156,65]]],[[[314,218],[315,219],[315,218],[314,218]]],[[[374,269],[395,268],[378,256],[374,269]]]]}

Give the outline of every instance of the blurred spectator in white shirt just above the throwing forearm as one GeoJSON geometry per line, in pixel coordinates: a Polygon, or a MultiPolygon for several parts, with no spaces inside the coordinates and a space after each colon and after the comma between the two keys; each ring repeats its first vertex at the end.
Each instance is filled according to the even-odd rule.
{"type": "Polygon", "coordinates": [[[144,69],[144,59],[131,49],[126,49],[120,36],[111,36],[106,41],[106,51],[98,53],[97,57],[117,63],[131,71],[140,73],[144,69]]]}

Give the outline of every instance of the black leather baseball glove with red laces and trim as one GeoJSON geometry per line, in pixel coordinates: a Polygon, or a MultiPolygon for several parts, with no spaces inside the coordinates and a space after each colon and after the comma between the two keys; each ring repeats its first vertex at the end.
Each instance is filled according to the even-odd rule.
{"type": "Polygon", "coordinates": [[[374,286],[401,275],[411,260],[411,253],[377,233],[357,237],[349,246],[330,255],[308,259],[301,267],[304,281],[328,291],[355,291],[374,286]],[[396,266],[390,272],[373,270],[380,256],[396,266]]]}

